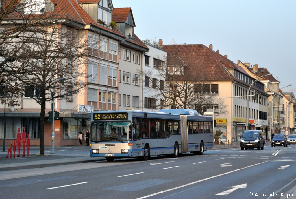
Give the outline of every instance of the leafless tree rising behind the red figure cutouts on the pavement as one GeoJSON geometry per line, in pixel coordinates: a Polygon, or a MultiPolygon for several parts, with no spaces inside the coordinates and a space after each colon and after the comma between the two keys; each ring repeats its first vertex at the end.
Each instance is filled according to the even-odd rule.
{"type": "MultiPolygon", "coordinates": [[[[86,87],[87,41],[83,32],[71,26],[71,22],[57,18],[58,11],[44,14],[42,18],[43,14],[36,15],[34,9],[22,9],[31,15],[23,19],[24,23],[34,21],[35,25],[23,27],[22,23],[7,20],[7,25],[1,26],[2,36],[9,27],[21,30],[8,38],[3,36],[1,40],[1,77],[15,98],[25,95],[41,106],[40,155],[44,155],[45,103],[54,99],[72,100],[72,95],[86,87]]],[[[19,15],[25,14],[20,12],[19,15]]]]}

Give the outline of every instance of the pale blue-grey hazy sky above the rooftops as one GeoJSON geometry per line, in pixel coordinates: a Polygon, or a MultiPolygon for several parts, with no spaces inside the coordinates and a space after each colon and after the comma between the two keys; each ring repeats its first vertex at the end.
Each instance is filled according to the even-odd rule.
{"type": "Polygon", "coordinates": [[[131,7],[135,34],[163,44],[204,44],[228,59],[258,64],[296,90],[295,0],[112,0],[131,7]]]}

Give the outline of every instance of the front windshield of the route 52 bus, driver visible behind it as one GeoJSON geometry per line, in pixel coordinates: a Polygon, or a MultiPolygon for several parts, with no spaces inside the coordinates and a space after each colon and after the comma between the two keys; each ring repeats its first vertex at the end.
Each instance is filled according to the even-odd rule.
{"type": "Polygon", "coordinates": [[[91,141],[130,141],[131,122],[93,122],[91,141]]]}

